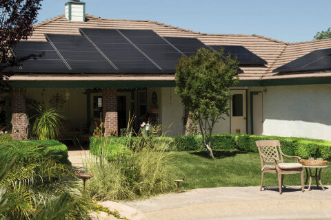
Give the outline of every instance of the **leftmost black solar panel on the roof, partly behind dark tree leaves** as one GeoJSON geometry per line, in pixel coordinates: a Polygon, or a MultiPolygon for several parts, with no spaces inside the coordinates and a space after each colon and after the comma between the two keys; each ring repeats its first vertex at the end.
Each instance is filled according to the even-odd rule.
{"type": "Polygon", "coordinates": [[[21,65],[22,69],[68,69],[48,42],[22,41],[12,48],[12,51],[16,57],[43,54],[43,56],[37,57],[37,60],[30,58],[30,60],[24,61],[21,65]]]}

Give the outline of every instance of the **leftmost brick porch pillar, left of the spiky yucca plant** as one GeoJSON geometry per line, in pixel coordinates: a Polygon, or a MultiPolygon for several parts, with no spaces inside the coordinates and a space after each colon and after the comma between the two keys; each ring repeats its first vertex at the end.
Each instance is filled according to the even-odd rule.
{"type": "Polygon", "coordinates": [[[26,114],[26,89],[14,88],[12,99],[12,138],[25,140],[28,137],[28,115],[26,114]]]}

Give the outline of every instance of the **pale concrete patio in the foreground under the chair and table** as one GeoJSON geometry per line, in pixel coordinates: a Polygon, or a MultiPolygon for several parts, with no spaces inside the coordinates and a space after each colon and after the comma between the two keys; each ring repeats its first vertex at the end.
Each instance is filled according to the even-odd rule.
{"type": "Polygon", "coordinates": [[[257,186],[201,188],[125,202],[146,219],[331,219],[331,186],[260,191],[257,186]]]}

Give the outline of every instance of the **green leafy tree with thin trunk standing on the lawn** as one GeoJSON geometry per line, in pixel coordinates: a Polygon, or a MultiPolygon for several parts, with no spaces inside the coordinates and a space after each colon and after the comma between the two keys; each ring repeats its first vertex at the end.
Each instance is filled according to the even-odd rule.
{"type": "Polygon", "coordinates": [[[237,58],[223,56],[223,50],[199,48],[197,54],[182,56],[176,66],[176,92],[190,118],[199,124],[203,145],[212,159],[212,129],[229,115],[230,87],[238,79],[237,58]]]}

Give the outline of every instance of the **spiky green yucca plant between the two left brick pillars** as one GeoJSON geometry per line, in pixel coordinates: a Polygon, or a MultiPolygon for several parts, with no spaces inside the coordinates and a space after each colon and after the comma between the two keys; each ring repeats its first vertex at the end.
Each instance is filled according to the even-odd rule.
{"type": "Polygon", "coordinates": [[[59,114],[59,107],[43,107],[40,104],[34,104],[34,124],[32,126],[32,135],[38,140],[57,140],[60,136],[62,122],[65,120],[63,115],[59,114]]]}

